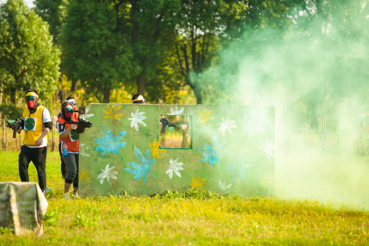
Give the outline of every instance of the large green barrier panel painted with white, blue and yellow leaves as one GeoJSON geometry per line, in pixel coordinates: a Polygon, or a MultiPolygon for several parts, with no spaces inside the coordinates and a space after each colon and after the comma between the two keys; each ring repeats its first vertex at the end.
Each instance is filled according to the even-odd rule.
{"type": "Polygon", "coordinates": [[[80,195],[274,192],[274,107],[89,104],[81,118],[80,195]],[[179,129],[160,133],[160,117],[179,129]]]}

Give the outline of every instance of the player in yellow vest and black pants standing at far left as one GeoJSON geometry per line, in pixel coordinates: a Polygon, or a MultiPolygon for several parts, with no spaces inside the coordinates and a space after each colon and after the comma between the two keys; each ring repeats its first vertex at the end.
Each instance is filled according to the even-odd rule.
{"type": "Polygon", "coordinates": [[[25,130],[25,137],[23,146],[20,148],[18,168],[20,180],[28,182],[28,166],[32,161],[37,170],[38,185],[45,194],[47,134],[52,128],[52,121],[49,110],[39,105],[37,100],[37,91],[26,92],[27,107],[23,109],[19,128],[19,130],[25,130]]]}

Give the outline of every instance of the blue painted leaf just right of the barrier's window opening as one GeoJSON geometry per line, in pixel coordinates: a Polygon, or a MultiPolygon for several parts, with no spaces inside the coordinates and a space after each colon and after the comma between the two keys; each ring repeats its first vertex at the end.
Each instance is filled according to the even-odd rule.
{"type": "Polygon", "coordinates": [[[203,151],[199,147],[196,147],[198,151],[201,152],[203,155],[203,158],[200,159],[201,162],[208,162],[209,166],[212,167],[215,163],[218,163],[219,167],[219,160],[223,157],[221,152],[226,153],[224,151],[224,145],[226,144],[226,139],[223,139],[223,141],[219,142],[218,135],[214,133],[211,144],[204,144],[202,143],[203,151]]]}

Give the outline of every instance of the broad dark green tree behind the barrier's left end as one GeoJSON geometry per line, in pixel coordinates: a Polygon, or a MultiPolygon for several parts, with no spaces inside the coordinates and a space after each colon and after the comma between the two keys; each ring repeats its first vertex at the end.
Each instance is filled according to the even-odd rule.
{"type": "Polygon", "coordinates": [[[110,91],[136,70],[129,36],[117,31],[118,13],[108,1],[71,0],[67,11],[60,40],[66,74],[109,103],[110,91]]]}

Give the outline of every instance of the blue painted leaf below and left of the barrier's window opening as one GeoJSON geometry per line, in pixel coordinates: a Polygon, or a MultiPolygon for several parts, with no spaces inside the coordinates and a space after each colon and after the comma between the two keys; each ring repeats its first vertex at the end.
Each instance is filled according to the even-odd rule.
{"type": "Polygon", "coordinates": [[[155,175],[151,173],[151,169],[155,163],[155,158],[151,159],[149,150],[146,150],[145,156],[143,156],[141,151],[137,147],[135,147],[135,156],[136,161],[128,163],[128,165],[131,166],[133,169],[125,169],[129,173],[135,174],[132,181],[142,177],[142,179],[144,179],[144,182],[146,182],[150,174],[155,177],[155,175]]]}

